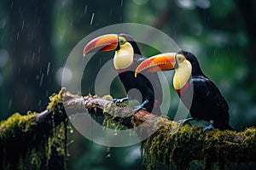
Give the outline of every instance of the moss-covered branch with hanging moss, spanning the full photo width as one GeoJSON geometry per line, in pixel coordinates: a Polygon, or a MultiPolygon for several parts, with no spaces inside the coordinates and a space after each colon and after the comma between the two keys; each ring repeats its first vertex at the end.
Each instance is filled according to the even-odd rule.
{"type": "Polygon", "coordinates": [[[50,97],[46,111],[16,113],[0,123],[1,169],[65,169],[67,168],[67,116],[87,109],[90,114],[104,116],[103,124],[118,130],[121,126],[137,130],[138,138],[155,131],[142,143],[143,165],[154,169],[159,165],[189,168],[197,163],[205,169],[225,164],[256,162],[256,128],[243,132],[180,125],[148,111],[137,111],[129,105],[113,104],[110,96],[76,96],[64,93],[50,97]],[[62,102],[62,99],[64,99],[62,102]],[[65,106],[65,109],[64,109],[65,106]],[[120,118],[121,117],[121,118],[120,118]]]}

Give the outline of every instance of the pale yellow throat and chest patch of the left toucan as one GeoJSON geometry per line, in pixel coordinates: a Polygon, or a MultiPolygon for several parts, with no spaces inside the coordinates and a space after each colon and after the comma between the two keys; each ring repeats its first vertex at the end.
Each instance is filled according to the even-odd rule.
{"type": "Polygon", "coordinates": [[[128,68],[133,61],[133,48],[130,43],[125,43],[117,50],[113,57],[113,65],[116,70],[128,68]]]}

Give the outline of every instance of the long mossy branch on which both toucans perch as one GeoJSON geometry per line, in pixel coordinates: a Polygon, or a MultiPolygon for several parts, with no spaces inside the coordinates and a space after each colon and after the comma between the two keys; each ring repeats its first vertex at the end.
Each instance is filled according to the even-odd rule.
{"type": "MultiPolygon", "coordinates": [[[[91,115],[104,116],[105,122],[109,120],[119,122],[125,127],[140,125],[137,130],[138,137],[155,131],[142,143],[143,163],[148,169],[160,164],[175,164],[179,168],[188,168],[192,161],[201,162],[205,168],[211,168],[213,164],[223,168],[224,164],[230,162],[256,161],[256,128],[254,127],[239,133],[218,129],[203,133],[202,127],[181,126],[177,122],[168,120],[166,117],[155,116],[148,111],[141,110],[134,113],[133,108],[129,105],[114,104],[111,96],[99,98],[89,95],[82,97],[66,92],[65,88],[59,94],[51,97],[46,111],[28,116],[15,115],[16,117],[10,117],[6,122],[0,124],[0,146],[1,150],[5,150],[1,160],[7,161],[8,150],[6,148],[9,144],[13,144],[12,146],[17,144],[14,142],[17,139],[22,139],[24,147],[29,148],[32,144],[35,146],[34,148],[37,148],[36,143],[42,137],[39,135],[35,137],[35,134],[40,133],[41,136],[44,134],[52,137],[53,132],[50,129],[66,122],[65,111],[67,109],[69,110],[68,116],[86,109],[91,115]],[[42,129],[42,127],[45,128],[42,129]],[[51,132],[51,135],[47,134],[48,131],[51,132]],[[26,141],[31,138],[35,140],[26,144],[26,141]]],[[[48,144],[51,141],[54,140],[48,139],[48,144]]],[[[46,147],[48,153],[51,146],[47,145],[46,147]]],[[[63,147],[66,148],[67,145],[63,147]]],[[[61,150],[61,153],[67,154],[67,150],[66,152],[61,150]]],[[[34,162],[40,164],[42,160],[39,158],[34,156],[34,162]]]]}

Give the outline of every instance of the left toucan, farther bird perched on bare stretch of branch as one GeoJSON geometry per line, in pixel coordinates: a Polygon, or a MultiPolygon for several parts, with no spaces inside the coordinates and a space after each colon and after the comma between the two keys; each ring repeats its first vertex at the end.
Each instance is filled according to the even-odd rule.
{"type": "Polygon", "coordinates": [[[134,77],[137,65],[146,58],[143,57],[137,42],[128,34],[107,34],[88,42],[84,47],[84,56],[90,52],[113,51],[113,66],[119,75],[120,81],[125,87],[127,97],[113,99],[113,102],[123,102],[128,99],[137,99],[141,105],[137,105],[135,111],[146,109],[160,115],[162,90],[157,73],[134,77]],[[154,109],[154,110],[153,110],[154,109]]]}

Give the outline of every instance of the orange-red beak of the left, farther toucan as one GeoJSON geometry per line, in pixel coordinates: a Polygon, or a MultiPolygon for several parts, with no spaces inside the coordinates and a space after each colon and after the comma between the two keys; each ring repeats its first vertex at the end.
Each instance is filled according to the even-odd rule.
{"type": "Polygon", "coordinates": [[[92,51],[111,51],[118,48],[119,37],[117,34],[107,34],[96,37],[84,47],[84,56],[92,51]]]}

